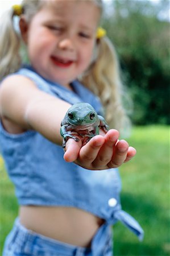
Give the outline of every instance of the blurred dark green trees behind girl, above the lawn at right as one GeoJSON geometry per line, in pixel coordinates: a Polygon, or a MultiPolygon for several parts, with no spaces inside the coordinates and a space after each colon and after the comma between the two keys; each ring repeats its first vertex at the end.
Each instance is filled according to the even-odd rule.
{"type": "Polygon", "coordinates": [[[134,101],[132,120],[138,125],[169,124],[169,1],[109,1],[103,26],[113,41],[134,101]]]}

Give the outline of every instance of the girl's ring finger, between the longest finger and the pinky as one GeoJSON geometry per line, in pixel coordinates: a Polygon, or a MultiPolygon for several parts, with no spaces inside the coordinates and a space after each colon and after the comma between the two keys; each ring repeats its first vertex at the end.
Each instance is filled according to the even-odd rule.
{"type": "Polygon", "coordinates": [[[128,143],[122,139],[115,146],[115,152],[110,163],[107,164],[110,168],[117,168],[123,164],[127,158],[128,143]]]}

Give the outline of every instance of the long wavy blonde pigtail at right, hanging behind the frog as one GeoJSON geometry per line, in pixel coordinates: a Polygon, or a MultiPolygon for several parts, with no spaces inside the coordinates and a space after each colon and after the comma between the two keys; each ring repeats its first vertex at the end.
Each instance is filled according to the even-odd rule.
{"type": "Polygon", "coordinates": [[[110,128],[118,129],[126,136],[130,119],[123,106],[123,85],[119,61],[113,44],[104,36],[97,42],[97,53],[90,69],[82,76],[82,84],[96,94],[105,109],[105,118],[110,128]]]}

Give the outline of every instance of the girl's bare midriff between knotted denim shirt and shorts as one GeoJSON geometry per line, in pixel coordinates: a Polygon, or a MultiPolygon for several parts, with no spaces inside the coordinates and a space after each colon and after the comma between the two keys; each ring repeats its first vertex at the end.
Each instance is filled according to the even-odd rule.
{"type": "Polygon", "coordinates": [[[89,247],[104,220],[73,207],[21,206],[20,222],[27,229],[71,245],[89,247]]]}

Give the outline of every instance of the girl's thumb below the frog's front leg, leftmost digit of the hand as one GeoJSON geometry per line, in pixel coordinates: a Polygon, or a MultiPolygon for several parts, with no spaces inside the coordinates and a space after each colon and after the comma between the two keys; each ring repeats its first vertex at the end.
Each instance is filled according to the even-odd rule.
{"type": "Polygon", "coordinates": [[[78,158],[81,146],[81,140],[76,142],[74,139],[68,139],[65,144],[64,160],[66,162],[74,162],[78,158]]]}

